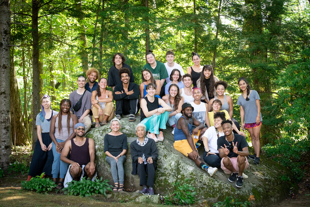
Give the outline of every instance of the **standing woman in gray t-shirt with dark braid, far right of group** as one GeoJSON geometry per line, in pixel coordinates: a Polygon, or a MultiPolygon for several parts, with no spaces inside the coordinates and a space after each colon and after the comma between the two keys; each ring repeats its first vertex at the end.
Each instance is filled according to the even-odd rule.
{"type": "Polygon", "coordinates": [[[260,128],[262,127],[262,114],[260,113],[260,98],[255,90],[250,90],[250,85],[244,78],[238,80],[240,92],[237,105],[240,106],[241,128],[247,129],[251,136],[254,155],[249,155],[248,158],[254,160],[254,164],[259,164],[260,152],[260,128]],[[243,123],[244,121],[244,123],[243,123]]]}

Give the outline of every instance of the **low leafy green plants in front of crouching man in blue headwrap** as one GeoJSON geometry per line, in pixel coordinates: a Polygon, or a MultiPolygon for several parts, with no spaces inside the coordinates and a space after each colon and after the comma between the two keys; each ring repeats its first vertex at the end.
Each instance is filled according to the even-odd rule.
{"type": "Polygon", "coordinates": [[[86,180],[85,178],[80,181],[73,180],[68,183],[68,187],[64,188],[64,193],[71,196],[92,196],[101,193],[107,197],[105,191],[112,191],[112,186],[108,182],[109,180],[103,181],[102,177],[100,179],[95,178],[95,181],[91,181],[91,179],[86,180]]]}

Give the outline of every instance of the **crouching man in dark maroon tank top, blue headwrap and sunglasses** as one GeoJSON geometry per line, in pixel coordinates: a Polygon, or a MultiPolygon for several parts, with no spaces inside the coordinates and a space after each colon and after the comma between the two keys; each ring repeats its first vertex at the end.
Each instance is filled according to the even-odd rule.
{"type": "Polygon", "coordinates": [[[83,123],[75,124],[74,132],[76,137],[66,142],[60,155],[60,160],[70,164],[64,178],[64,187],[68,186],[68,182],[81,180],[83,177],[93,180],[97,174],[94,140],[84,137],[85,125],[83,123]],[[67,158],[69,153],[70,159],[67,158]]]}

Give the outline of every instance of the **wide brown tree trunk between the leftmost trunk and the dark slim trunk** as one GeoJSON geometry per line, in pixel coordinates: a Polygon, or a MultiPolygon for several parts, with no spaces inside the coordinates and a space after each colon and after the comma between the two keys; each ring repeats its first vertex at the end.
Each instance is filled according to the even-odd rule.
{"type": "Polygon", "coordinates": [[[10,75],[11,91],[11,136],[14,146],[29,144],[24,127],[24,116],[21,109],[20,92],[17,85],[15,66],[14,66],[14,49],[12,48],[12,62],[10,75]]]}

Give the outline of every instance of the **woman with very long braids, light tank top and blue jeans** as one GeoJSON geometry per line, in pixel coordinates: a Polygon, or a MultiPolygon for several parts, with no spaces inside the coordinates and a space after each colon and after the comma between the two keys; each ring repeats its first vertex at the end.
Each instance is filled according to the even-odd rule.
{"type": "Polygon", "coordinates": [[[71,101],[63,99],[60,101],[60,110],[51,119],[50,136],[53,141],[52,151],[54,161],[52,165],[53,181],[56,182],[59,174],[57,189],[64,187],[64,176],[68,170],[68,164],[60,160],[61,150],[65,142],[75,137],[73,126],[78,123],[78,117],[70,113],[71,101]]]}

